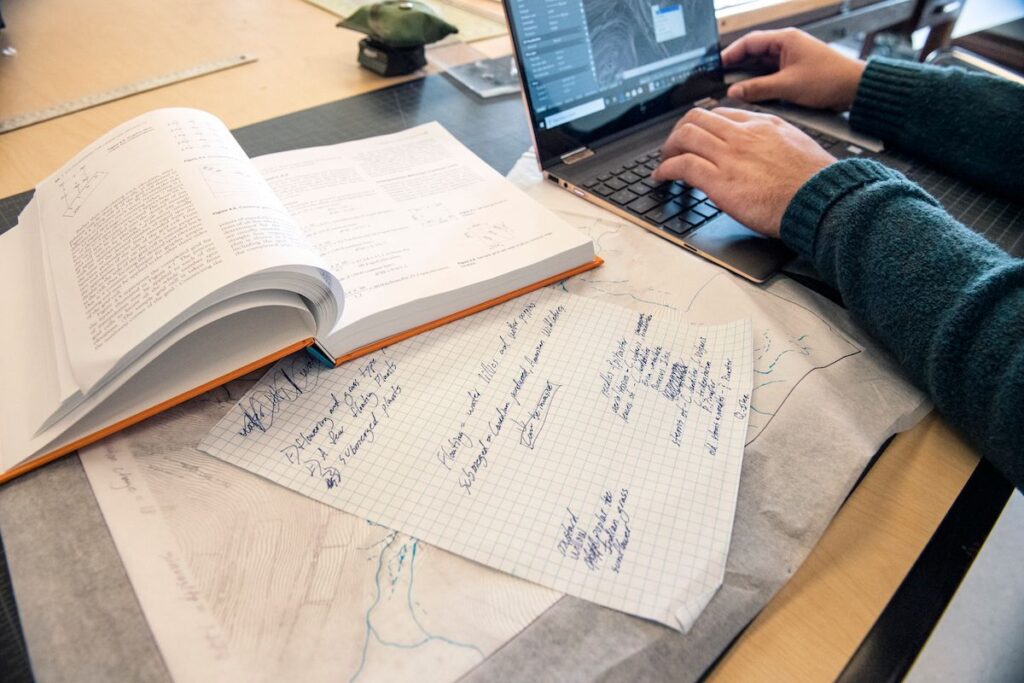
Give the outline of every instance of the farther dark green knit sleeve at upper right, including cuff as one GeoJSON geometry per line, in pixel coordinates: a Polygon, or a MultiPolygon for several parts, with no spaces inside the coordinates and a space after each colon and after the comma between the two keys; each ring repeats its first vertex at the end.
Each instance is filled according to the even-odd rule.
{"type": "Polygon", "coordinates": [[[850,125],[1010,199],[1024,196],[1024,86],[962,69],[872,58],[850,125]]]}

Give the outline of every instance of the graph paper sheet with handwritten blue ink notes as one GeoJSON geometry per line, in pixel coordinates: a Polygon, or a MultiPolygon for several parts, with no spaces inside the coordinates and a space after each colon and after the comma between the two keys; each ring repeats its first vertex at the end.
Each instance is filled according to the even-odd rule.
{"type": "Polygon", "coordinates": [[[336,370],[292,356],[200,449],[685,631],[724,575],[752,366],[749,321],[548,289],[336,370]]]}

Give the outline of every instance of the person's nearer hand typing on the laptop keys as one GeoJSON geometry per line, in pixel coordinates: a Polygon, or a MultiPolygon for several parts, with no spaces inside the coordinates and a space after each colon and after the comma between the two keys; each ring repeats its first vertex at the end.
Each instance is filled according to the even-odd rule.
{"type": "Polygon", "coordinates": [[[777,238],[797,190],[836,159],[778,117],[720,106],[686,113],[662,147],[655,180],[699,187],[727,214],[777,238]]]}

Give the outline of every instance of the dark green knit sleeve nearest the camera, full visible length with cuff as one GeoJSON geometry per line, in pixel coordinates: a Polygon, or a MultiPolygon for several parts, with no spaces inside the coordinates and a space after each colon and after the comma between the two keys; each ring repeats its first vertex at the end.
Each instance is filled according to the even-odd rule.
{"type": "Polygon", "coordinates": [[[1024,488],[1024,260],[867,160],[811,178],[791,202],[781,237],[938,411],[1024,488]]]}

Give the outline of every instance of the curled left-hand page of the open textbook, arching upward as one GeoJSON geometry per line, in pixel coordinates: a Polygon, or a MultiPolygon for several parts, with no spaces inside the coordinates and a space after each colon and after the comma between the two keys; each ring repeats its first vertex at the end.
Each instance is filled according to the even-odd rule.
{"type": "Polygon", "coordinates": [[[158,110],[122,124],[44,180],[36,202],[86,394],[232,284],[221,298],[286,289],[266,272],[278,268],[315,305],[340,297],[227,128],[204,112],[158,110]]]}

